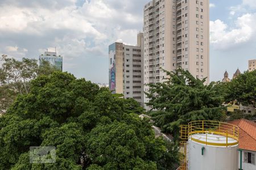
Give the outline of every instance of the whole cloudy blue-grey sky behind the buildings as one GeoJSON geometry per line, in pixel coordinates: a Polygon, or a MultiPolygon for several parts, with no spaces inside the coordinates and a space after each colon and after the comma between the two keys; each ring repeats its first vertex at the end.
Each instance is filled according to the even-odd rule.
{"type": "MultiPolygon", "coordinates": [[[[148,0],[0,0],[0,55],[36,58],[57,49],[63,70],[108,83],[108,46],[136,45],[148,0]]],[[[210,80],[256,59],[256,0],[210,0],[210,80]]]]}

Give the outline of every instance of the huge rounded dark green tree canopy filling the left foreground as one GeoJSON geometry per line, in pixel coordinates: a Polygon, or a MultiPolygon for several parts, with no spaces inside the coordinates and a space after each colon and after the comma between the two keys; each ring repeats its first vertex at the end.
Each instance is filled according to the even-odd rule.
{"type": "Polygon", "coordinates": [[[177,148],[142,112],[85,79],[41,75],[0,117],[0,169],[175,169],[177,148]],[[55,146],[56,163],[30,164],[30,146],[55,146]]]}

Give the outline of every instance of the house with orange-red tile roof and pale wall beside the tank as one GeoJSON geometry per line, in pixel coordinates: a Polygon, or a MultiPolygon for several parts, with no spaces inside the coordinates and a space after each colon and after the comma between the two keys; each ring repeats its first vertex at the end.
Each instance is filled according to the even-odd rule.
{"type": "Polygon", "coordinates": [[[240,119],[229,122],[238,126],[239,129],[239,148],[241,154],[238,156],[238,167],[240,168],[240,156],[242,156],[242,169],[256,169],[256,123],[253,121],[240,119]]]}

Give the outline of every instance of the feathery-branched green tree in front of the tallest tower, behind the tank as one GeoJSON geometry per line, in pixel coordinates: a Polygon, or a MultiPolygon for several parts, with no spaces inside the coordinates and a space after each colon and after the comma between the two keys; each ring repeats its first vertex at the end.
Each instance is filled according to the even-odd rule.
{"type": "Polygon", "coordinates": [[[152,108],[151,116],[162,130],[177,139],[179,125],[196,120],[221,120],[224,97],[218,83],[204,85],[205,79],[194,78],[188,71],[166,71],[169,78],[164,83],[149,84],[147,93],[152,108]],[[154,111],[156,110],[156,111],[154,111]]]}

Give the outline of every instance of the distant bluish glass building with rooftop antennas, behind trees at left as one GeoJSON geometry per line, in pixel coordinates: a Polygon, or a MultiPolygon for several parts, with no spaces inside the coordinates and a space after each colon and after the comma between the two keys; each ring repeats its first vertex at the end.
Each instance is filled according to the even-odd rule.
{"type": "Polygon", "coordinates": [[[44,52],[44,55],[39,56],[39,64],[42,63],[42,60],[48,61],[58,70],[63,70],[63,57],[57,56],[56,52],[48,52],[47,50],[47,52],[44,52]]]}

